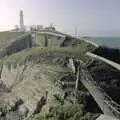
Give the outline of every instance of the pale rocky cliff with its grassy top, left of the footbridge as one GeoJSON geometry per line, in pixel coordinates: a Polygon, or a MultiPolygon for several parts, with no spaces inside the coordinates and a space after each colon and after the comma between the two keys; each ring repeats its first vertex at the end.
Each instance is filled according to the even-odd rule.
{"type": "MultiPolygon", "coordinates": [[[[95,111],[99,113],[99,109],[90,110],[89,105],[86,106],[89,104],[88,100],[91,99],[93,103],[94,100],[82,84],[81,92],[77,95],[80,97],[77,98],[72,92],[75,88],[75,77],[69,67],[69,59],[73,55],[81,59],[85,58],[82,53],[75,53],[77,53],[75,50],[70,51],[69,48],[35,47],[2,58],[0,61],[0,119],[22,120],[38,113],[45,115],[51,110],[57,111],[58,105],[61,110],[66,105],[71,107],[75,104],[82,105],[83,107],[79,108],[81,111],[85,109],[80,114],[82,117],[88,112],[91,112],[91,117],[95,111]],[[71,79],[73,86],[65,89],[61,82],[63,79],[71,79]]],[[[96,104],[94,106],[97,107],[96,104]]]]}

